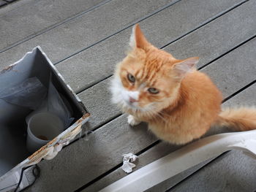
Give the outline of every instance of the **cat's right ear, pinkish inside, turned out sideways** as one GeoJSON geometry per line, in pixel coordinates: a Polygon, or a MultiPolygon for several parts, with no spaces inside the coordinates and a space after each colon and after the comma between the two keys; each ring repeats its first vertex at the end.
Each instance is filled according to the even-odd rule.
{"type": "Polygon", "coordinates": [[[198,63],[199,58],[187,58],[178,62],[173,66],[173,70],[178,75],[178,78],[183,78],[188,72],[191,72],[195,65],[198,63]]]}

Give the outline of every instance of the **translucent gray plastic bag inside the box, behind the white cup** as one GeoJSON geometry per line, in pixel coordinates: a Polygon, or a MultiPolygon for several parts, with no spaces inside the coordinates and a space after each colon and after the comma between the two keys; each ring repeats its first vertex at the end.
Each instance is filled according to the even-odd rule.
{"type": "Polygon", "coordinates": [[[74,120],[71,107],[67,107],[69,106],[68,102],[64,102],[64,96],[61,97],[51,82],[51,78],[48,89],[42,85],[37,77],[31,77],[19,85],[0,91],[0,99],[34,110],[26,118],[27,122],[35,112],[51,112],[57,115],[64,123],[64,128],[67,128],[74,120]]]}

